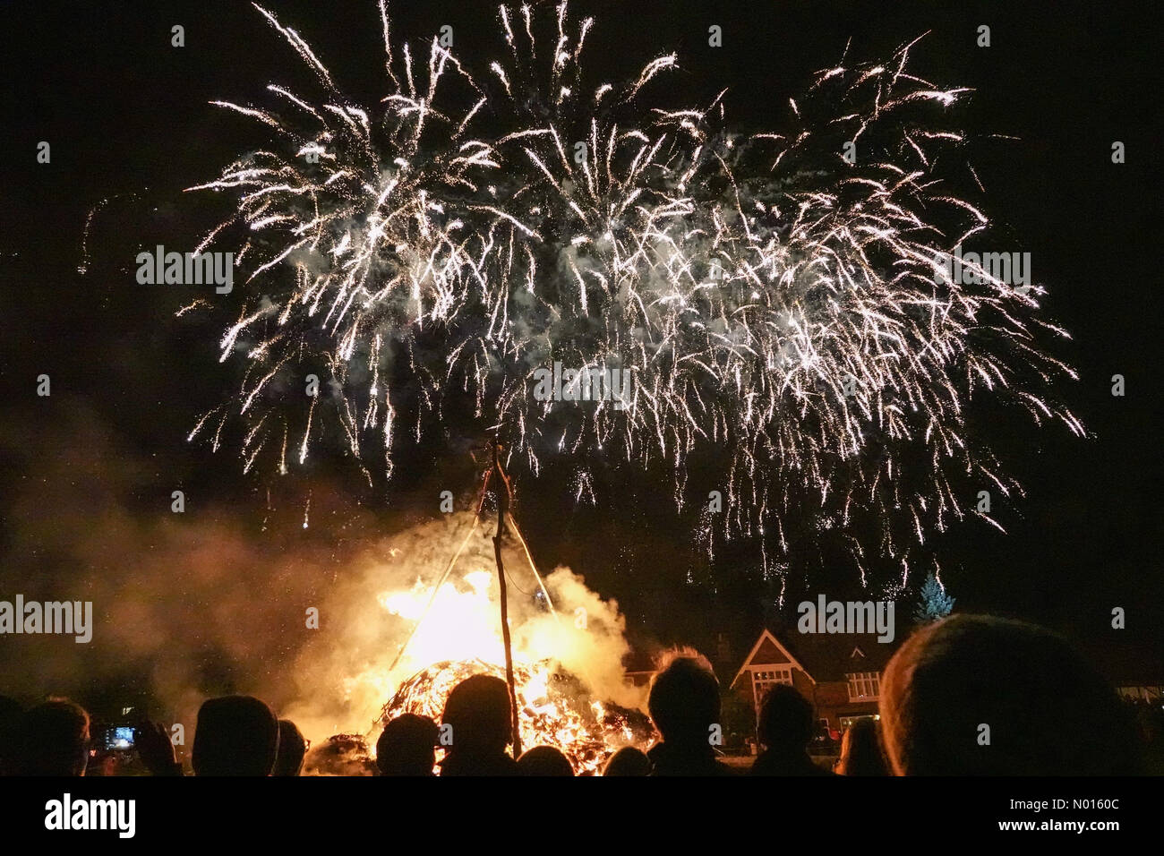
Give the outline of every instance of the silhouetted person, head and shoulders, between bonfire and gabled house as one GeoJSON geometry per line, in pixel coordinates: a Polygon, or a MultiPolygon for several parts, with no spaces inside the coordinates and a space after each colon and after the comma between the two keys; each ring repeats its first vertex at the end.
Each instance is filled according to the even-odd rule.
{"type": "Polygon", "coordinates": [[[647,709],[662,742],[647,752],[651,776],[731,776],[711,738],[719,723],[719,681],[703,657],[680,655],[651,679],[647,709]]]}

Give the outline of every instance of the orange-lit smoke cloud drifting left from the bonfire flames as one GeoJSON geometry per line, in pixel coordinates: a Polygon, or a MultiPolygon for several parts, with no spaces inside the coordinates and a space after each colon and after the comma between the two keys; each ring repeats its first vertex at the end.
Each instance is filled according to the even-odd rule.
{"type": "MultiPolygon", "coordinates": [[[[185,724],[187,747],[205,698],[253,693],[318,742],[368,733],[395,686],[434,657],[499,653],[490,521],[466,542],[430,617],[390,668],[473,529],[471,512],[417,522],[402,511],[385,535],[343,490],[315,481],[306,530],[301,505],[268,508],[264,518],[262,491],[230,505],[189,490],[176,514],[171,491],[183,484],[128,451],[84,405],[61,412],[57,427],[35,438],[13,427],[33,420],[13,419],[0,434],[0,455],[14,465],[2,502],[0,600],[91,601],[93,638],[0,637],[0,692],[107,708],[151,698],[157,719],[185,724]],[[308,627],[311,608],[318,629],[308,627]]],[[[545,580],[555,616],[511,540],[503,556],[514,651],[555,659],[596,698],[636,706],[623,682],[617,604],[558,568],[545,580]]]]}

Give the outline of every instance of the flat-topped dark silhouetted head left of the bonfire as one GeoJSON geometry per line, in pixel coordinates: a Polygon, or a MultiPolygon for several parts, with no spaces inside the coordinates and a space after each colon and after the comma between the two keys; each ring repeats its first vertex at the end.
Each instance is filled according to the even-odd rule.
{"type": "Polygon", "coordinates": [[[270,776],[278,742],[278,720],[258,699],[207,699],[194,727],[194,776],[270,776]]]}

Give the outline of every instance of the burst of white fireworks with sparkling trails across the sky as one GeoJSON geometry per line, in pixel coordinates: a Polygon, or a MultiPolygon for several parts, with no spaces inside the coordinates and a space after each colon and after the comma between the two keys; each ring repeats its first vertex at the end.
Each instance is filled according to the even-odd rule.
{"type": "Polygon", "coordinates": [[[876,544],[849,537],[861,579],[888,557],[903,586],[927,537],[975,514],[967,496],[1021,490],[967,431],[975,397],[1084,434],[1051,394],[1074,373],[1041,349],[1065,335],[1039,317],[1043,289],[942,273],[989,220],[956,191],[978,184],[949,123],[967,91],[907,71],[911,45],[819,72],[787,127],[744,133],[723,93],[651,100],[674,55],[590,80],[594,20],[566,3],[501,7],[496,50],[471,64],[395,41],[381,3],[372,107],[260,12],[322,99],[271,85],[274,107],[219,102],[281,144],[191,189],[236,198],[206,243],[240,236],[250,283],[221,340],[243,383],[194,433],[217,446],[241,416],[246,467],[262,452],[285,467],[288,448],[301,464],[327,422],[371,482],[374,462],[390,475],[402,443],[467,410],[503,427],[510,467],[576,461],[577,501],[601,490],[601,460],[663,467],[683,505],[707,496],[694,462],[715,458],[709,549],[757,537],[779,571],[794,530],[873,522],[876,544]],[[554,361],[629,372],[626,408],[535,398],[554,361]],[[331,383],[293,404],[313,368],[331,383]]]}

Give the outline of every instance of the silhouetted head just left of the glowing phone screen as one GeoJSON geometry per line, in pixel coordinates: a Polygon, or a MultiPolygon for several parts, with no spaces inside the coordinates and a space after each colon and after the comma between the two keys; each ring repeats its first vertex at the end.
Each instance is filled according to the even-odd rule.
{"type": "Polygon", "coordinates": [[[84,776],[88,714],[65,699],[26,710],[15,726],[14,767],[20,776],[84,776]]]}

